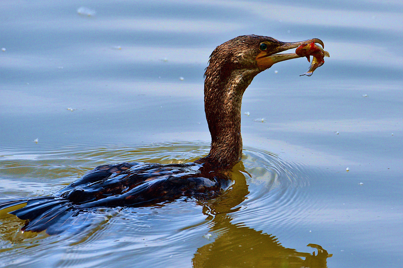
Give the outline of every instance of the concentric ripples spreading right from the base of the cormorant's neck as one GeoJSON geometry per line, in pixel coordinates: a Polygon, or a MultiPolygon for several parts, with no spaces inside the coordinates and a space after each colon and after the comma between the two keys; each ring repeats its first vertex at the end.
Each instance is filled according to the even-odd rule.
{"type": "Polygon", "coordinates": [[[287,227],[299,223],[300,215],[312,210],[303,188],[309,174],[303,165],[285,162],[264,150],[246,147],[242,158],[249,194],[233,213],[235,223],[261,229],[287,227]]]}

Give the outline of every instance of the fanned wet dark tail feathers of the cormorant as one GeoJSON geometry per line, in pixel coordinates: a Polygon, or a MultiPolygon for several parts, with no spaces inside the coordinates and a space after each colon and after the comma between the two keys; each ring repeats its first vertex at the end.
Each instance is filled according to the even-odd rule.
{"type": "Polygon", "coordinates": [[[73,215],[73,204],[70,200],[54,196],[16,200],[0,204],[1,214],[16,215],[26,220],[22,231],[41,232],[48,234],[61,233],[66,229],[68,219],[73,215]]]}

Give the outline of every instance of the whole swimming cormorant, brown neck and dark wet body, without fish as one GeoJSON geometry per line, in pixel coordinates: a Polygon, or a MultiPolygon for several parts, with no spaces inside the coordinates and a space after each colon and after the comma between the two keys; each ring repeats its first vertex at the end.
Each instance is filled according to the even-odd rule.
{"type": "Polygon", "coordinates": [[[69,225],[71,216],[88,208],[143,206],[183,195],[220,192],[231,182],[228,170],[242,156],[243,92],[257,74],[274,63],[299,57],[295,53],[276,53],[307,42],[323,45],[319,39],[284,43],[271,37],[246,35],[214,49],[204,84],[206,119],[212,138],[206,157],[188,164],[99,166],[52,196],[3,203],[0,209],[27,220],[23,230],[60,233],[69,225]]]}

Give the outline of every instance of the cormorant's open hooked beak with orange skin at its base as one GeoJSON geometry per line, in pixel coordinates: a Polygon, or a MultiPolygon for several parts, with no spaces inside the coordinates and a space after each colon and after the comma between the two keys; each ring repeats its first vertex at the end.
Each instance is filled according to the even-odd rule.
{"type": "Polygon", "coordinates": [[[306,40],[306,41],[300,41],[300,42],[291,42],[291,43],[280,42],[282,45],[278,46],[277,49],[275,49],[274,51],[262,51],[258,54],[258,56],[256,56],[256,61],[258,62],[258,67],[260,70],[263,71],[263,70],[266,70],[266,69],[272,67],[272,65],[274,63],[277,63],[280,61],[286,61],[287,59],[299,58],[300,56],[298,56],[295,53],[289,53],[289,54],[276,54],[276,53],[286,51],[288,49],[297,48],[302,44],[312,43],[312,42],[319,43],[324,48],[324,43],[322,42],[322,40],[316,39],[316,38],[306,40]]]}

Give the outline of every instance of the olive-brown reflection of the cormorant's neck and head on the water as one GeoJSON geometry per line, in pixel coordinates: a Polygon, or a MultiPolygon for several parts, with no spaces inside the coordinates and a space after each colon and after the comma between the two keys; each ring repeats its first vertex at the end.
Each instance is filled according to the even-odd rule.
{"type": "MultiPolygon", "coordinates": [[[[214,223],[210,229],[218,237],[214,242],[197,249],[193,266],[199,267],[311,267],[326,268],[326,259],[331,257],[320,245],[308,244],[318,250],[297,252],[281,245],[274,235],[256,231],[241,224],[232,224],[231,213],[240,209],[249,194],[243,173],[245,167],[240,162],[233,169],[235,184],[222,196],[201,202],[203,213],[214,223]],[[236,207],[235,209],[233,209],[236,207]],[[303,259],[305,258],[305,260],[303,259]]],[[[211,235],[211,234],[209,234],[211,235]]],[[[207,238],[209,236],[206,236],[207,238]]]]}

